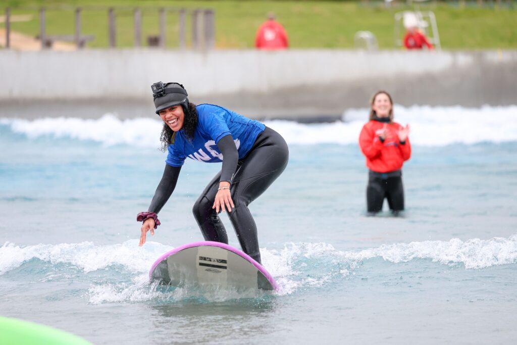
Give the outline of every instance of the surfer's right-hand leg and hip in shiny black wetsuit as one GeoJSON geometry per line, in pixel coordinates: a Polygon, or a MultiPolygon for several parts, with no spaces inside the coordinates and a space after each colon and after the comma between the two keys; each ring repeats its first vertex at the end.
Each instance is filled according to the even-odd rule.
{"type": "Polygon", "coordinates": [[[289,150],[284,139],[266,127],[256,139],[248,156],[239,161],[231,187],[235,207],[228,215],[242,251],[261,262],[257,228],[248,205],[284,171],[289,150]]]}

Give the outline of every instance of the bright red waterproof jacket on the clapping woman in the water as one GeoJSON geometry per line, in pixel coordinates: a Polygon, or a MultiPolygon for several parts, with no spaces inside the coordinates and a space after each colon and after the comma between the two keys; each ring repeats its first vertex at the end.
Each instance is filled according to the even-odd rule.
{"type": "Polygon", "coordinates": [[[402,126],[396,122],[389,124],[370,121],[364,125],[359,134],[359,146],[366,156],[366,166],[375,172],[385,173],[402,168],[404,161],[411,157],[409,138],[404,144],[399,141],[399,129],[402,126]],[[379,139],[379,133],[387,125],[388,135],[384,142],[379,139]]]}

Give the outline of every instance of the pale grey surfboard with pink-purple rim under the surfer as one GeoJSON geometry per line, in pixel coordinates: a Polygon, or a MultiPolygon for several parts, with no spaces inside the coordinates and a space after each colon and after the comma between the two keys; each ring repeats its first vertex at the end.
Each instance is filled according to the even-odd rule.
{"type": "Polygon", "coordinates": [[[278,288],[264,266],[248,254],[210,241],[190,243],[166,252],[151,266],[149,280],[176,287],[278,288]]]}

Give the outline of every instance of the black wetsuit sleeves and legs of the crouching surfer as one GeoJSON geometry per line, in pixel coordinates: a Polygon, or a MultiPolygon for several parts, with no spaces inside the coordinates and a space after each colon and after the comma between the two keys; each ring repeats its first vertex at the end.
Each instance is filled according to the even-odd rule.
{"type": "MultiPolygon", "coordinates": [[[[258,134],[248,154],[238,159],[237,148],[232,136],[223,137],[218,142],[223,154],[223,166],[192,209],[194,217],[206,241],[228,243],[224,225],[219,219],[214,205],[220,181],[231,183],[230,192],[235,207],[228,213],[242,251],[257,262],[261,262],[258,249],[257,228],[248,205],[258,198],[287,166],[289,150],[285,140],[276,131],[266,127],[258,134]]],[[[181,167],[165,166],[165,171],[148,211],[158,213],[170,198],[181,167]]]]}

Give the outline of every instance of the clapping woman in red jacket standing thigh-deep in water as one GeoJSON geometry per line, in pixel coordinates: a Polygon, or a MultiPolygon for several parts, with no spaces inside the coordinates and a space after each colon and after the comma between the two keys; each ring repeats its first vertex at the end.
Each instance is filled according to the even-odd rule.
{"type": "Polygon", "coordinates": [[[402,164],[411,156],[409,125],[393,122],[393,101],[385,91],[377,92],[371,101],[370,121],[359,135],[361,152],[366,156],[369,215],[382,211],[384,199],[394,215],[404,211],[402,164]]]}

